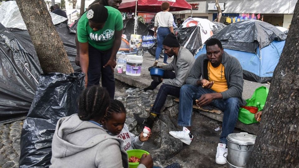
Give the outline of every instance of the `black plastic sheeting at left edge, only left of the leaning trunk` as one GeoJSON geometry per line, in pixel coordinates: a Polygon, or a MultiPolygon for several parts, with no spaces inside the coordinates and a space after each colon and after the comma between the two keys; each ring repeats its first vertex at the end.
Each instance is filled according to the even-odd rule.
{"type": "Polygon", "coordinates": [[[31,106],[42,73],[33,51],[0,24],[0,124],[24,119],[31,106]]]}

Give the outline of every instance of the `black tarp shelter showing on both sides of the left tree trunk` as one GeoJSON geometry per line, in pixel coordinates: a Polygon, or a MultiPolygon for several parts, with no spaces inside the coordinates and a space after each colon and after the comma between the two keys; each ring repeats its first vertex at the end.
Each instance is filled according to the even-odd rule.
{"type": "MultiPolygon", "coordinates": [[[[64,23],[55,27],[75,72],[80,72],[81,68],[74,63],[75,34],[64,23]]],[[[0,36],[0,123],[3,124],[25,118],[42,70],[27,30],[0,24],[0,36]]]]}

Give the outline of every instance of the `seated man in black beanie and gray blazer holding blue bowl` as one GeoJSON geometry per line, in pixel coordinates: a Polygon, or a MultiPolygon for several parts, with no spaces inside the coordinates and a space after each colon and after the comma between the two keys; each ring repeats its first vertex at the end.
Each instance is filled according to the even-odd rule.
{"type": "Polygon", "coordinates": [[[142,118],[134,113],[135,119],[143,128],[145,126],[149,128],[153,127],[154,120],[156,119],[157,115],[160,114],[160,110],[162,109],[168,95],[176,97],[180,96],[181,86],[185,84],[190,69],[195,62],[195,59],[190,51],[180,46],[177,37],[173,33],[170,33],[165,37],[163,41],[163,48],[165,54],[174,56],[174,58],[169,64],[150,67],[162,68],[165,70],[165,72],[163,77],[152,77],[153,82],[151,82],[151,85],[143,89],[144,91],[153,90],[160,83],[163,83],[151,109],[150,116],[147,118],[142,118]]]}

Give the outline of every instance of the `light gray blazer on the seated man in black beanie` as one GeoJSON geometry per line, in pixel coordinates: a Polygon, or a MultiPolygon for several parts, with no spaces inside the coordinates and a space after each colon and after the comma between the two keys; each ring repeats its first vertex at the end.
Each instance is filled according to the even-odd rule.
{"type": "Polygon", "coordinates": [[[173,61],[167,65],[160,66],[166,71],[174,71],[174,79],[163,79],[162,83],[181,87],[185,84],[188,74],[195,62],[195,58],[190,51],[184,47],[180,47],[178,56],[174,56],[173,61]]]}

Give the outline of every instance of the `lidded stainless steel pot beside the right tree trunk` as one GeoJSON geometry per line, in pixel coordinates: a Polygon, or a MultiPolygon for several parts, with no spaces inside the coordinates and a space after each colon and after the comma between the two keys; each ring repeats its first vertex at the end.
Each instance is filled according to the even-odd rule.
{"type": "Polygon", "coordinates": [[[249,157],[254,147],[255,135],[231,133],[227,139],[227,161],[236,167],[248,167],[249,157]]]}

